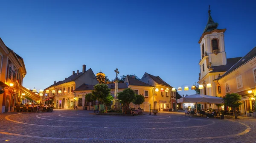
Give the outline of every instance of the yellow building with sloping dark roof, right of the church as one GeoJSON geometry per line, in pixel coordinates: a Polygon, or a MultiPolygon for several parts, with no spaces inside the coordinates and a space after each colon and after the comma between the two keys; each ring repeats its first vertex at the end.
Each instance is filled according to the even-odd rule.
{"type": "MultiPolygon", "coordinates": [[[[256,95],[256,48],[253,48],[247,55],[242,57],[224,75],[215,80],[220,86],[216,90],[222,97],[227,93],[238,93],[241,95],[242,105],[239,107],[241,115],[255,116],[255,96],[256,95]],[[248,93],[250,91],[251,93],[248,93]]],[[[225,109],[227,110],[227,109],[225,109]]]]}

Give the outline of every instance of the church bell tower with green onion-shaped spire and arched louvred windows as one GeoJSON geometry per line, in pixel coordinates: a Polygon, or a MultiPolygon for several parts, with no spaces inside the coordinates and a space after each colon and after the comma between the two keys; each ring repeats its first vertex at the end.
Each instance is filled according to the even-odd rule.
{"type": "Polygon", "coordinates": [[[218,23],[212,20],[210,9],[208,13],[207,25],[198,42],[201,48],[201,59],[199,62],[201,78],[206,76],[207,73],[212,72],[212,67],[227,64],[224,45],[224,32],[226,29],[217,29],[218,23]]]}

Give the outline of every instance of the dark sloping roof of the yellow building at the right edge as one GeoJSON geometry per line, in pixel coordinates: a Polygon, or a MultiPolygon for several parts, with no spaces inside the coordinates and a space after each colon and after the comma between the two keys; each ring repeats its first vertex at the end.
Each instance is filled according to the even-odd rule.
{"type": "Polygon", "coordinates": [[[244,57],[240,58],[240,60],[236,62],[236,64],[234,64],[232,67],[230,67],[230,69],[227,70],[227,72],[224,73],[219,79],[223,78],[224,76],[227,76],[228,74],[230,74],[231,72],[233,72],[234,70],[242,66],[243,64],[253,59],[255,56],[256,56],[256,47],[250,50],[250,52],[247,53],[244,57]]]}

